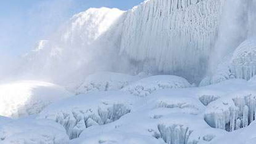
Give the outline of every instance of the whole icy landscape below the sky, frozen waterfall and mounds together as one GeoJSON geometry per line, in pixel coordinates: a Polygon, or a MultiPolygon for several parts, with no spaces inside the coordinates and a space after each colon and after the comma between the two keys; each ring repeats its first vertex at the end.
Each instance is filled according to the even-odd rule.
{"type": "Polygon", "coordinates": [[[255,7],[145,0],[74,15],[9,76],[51,83],[0,84],[0,144],[256,144],[255,7]]]}

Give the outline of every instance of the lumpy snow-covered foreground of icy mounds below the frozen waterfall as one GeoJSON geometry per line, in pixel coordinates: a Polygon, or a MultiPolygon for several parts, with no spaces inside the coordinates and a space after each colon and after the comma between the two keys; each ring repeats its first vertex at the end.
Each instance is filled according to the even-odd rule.
{"type": "Polygon", "coordinates": [[[38,81],[4,84],[0,144],[255,144],[255,89],[254,78],[195,87],[111,72],[88,76],[73,94],[38,81]]]}

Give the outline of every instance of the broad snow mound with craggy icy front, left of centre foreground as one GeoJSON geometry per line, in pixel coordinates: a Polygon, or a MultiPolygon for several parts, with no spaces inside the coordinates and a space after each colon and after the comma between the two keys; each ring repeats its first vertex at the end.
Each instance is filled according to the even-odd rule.
{"type": "Polygon", "coordinates": [[[77,95],[47,107],[39,118],[58,122],[73,139],[88,127],[108,124],[128,114],[133,101],[133,95],[114,91],[77,95]]]}

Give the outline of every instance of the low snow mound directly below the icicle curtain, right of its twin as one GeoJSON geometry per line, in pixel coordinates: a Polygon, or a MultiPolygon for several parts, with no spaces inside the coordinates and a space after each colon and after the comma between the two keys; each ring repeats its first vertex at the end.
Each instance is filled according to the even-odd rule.
{"type": "Polygon", "coordinates": [[[175,75],[156,75],[143,78],[126,86],[123,90],[133,95],[147,96],[158,89],[177,89],[191,87],[189,82],[175,75]]]}

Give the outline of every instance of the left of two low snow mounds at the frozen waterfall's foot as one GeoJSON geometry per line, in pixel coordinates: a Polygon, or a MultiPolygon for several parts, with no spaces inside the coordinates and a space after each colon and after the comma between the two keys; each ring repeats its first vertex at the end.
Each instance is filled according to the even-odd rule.
{"type": "Polygon", "coordinates": [[[131,75],[114,72],[99,72],[87,76],[84,83],[77,89],[77,93],[119,90],[137,79],[137,77],[131,75]]]}

